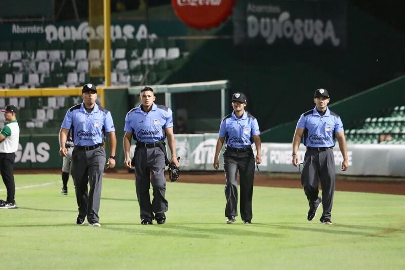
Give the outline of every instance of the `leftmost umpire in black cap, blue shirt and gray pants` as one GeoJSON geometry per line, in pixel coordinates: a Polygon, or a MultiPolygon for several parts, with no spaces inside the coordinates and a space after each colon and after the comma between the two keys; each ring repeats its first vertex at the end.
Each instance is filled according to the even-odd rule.
{"type": "Polygon", "coordinates": [[[73,139],[71,173],[76,191],[79,214],[77,225],[87,221],[89,226],[100,227],[98,211],[100,209],[101,182],[105,166],[103,143],[108,135],[110,154],[107,167],[115,167],[116,138],[111,113],[96,104],[97,89],[86,84],[82,89],[83,103],[67,110],[59,132],[59,154],[66,157],[66,141],[69,130],[73,139]],[[90,182],[88,194],[87,184],[90,182]]]}

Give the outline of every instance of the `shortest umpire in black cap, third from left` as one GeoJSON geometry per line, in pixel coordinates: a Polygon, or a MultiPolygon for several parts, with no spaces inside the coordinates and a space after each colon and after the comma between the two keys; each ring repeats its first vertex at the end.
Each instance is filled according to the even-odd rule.
{"type": "Polygon", "coordinates": [[[218,156],[224,141],[225,170],[225,216],[226,223],[234,223],[237,216],[237,182],[236,175],[239,171],[240,182],[240,216],[244,223],[252,223],[252,198],[253,179],[256,164],[262,162],[261,141],[259,124],[256,118],[245,111],[247,105],[246,96],[243,93],[232,95],[233,112],[227,115],[221,122],[219,137],[215,149],[214,169],[218,170],[218,156]],[[256,145],[256,159],[252,149],[252,143],[256,145]]]}

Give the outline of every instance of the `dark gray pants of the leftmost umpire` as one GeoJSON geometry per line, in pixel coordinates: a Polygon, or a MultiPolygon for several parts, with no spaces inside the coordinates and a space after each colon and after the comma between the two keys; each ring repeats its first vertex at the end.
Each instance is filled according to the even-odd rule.
{"type": "Polygon", "coordinates": [[[77,147],[72,153],[71,171],[76,191],[79,217],[89,223],[99,222],[101,184],[105,165],[105,150],[97,147],[93,150],[83,150],[77,147]],[[87,184],[90,182],[88,194],[87,184]]]}

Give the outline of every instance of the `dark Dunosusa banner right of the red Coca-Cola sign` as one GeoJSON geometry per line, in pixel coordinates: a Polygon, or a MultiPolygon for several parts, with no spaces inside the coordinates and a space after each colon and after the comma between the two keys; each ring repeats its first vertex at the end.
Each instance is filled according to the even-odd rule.
{"type": "Polygon", "coordinates": [[[238,1],[235,45],[345,47],[346,1],[238,1]]]}

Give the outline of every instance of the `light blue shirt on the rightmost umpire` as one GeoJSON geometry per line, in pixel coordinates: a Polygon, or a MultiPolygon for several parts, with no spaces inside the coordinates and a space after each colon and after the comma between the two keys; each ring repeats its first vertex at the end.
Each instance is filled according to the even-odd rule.
{"type": "Polygon", "coordinates": [[[316,106],[301,114],[297,128],[304,130],[302,142],[309,147],[334,147],[335,133],[344,131],[338,114],[327,107],[325,114],[320,116],[316,106]]]}

